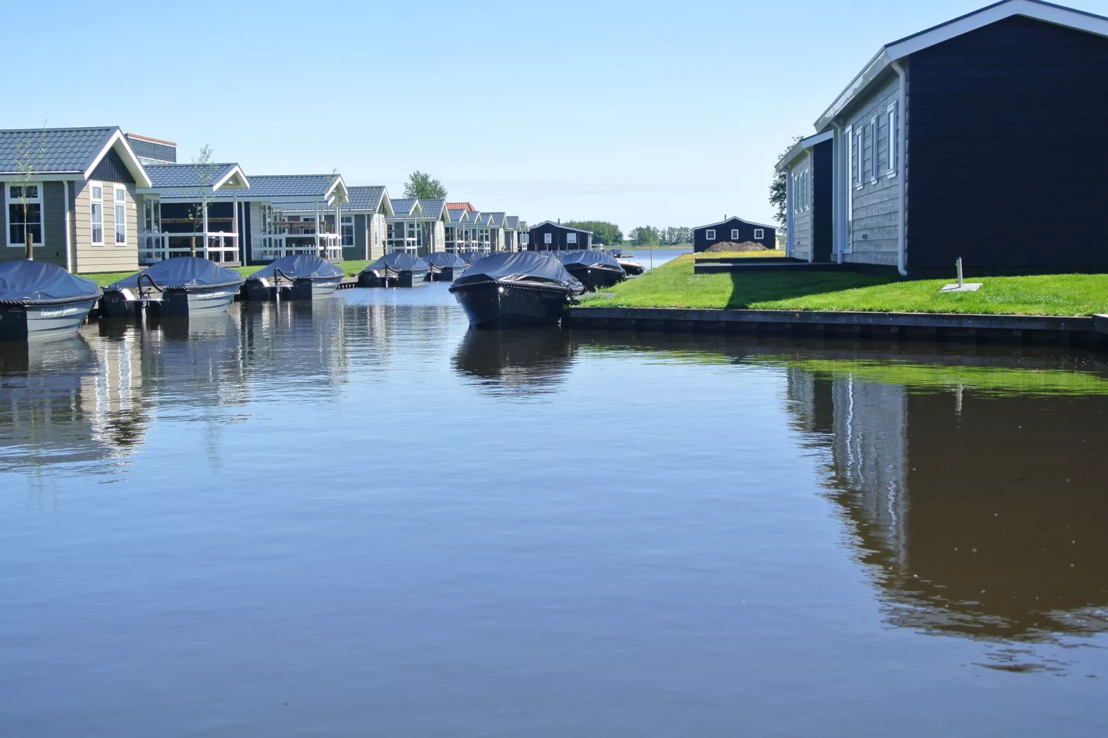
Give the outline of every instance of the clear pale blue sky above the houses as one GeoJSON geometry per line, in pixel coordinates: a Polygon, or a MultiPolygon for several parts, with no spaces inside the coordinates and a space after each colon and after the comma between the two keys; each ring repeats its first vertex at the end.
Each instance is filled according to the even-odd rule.
{"type": "Polygon", "coordinates": [[[532,223],[770,222],[781,150],[881,44],[984,4],[11,3],[0,127],[119,125],[393,197],[422,170],[532,223]]]}

